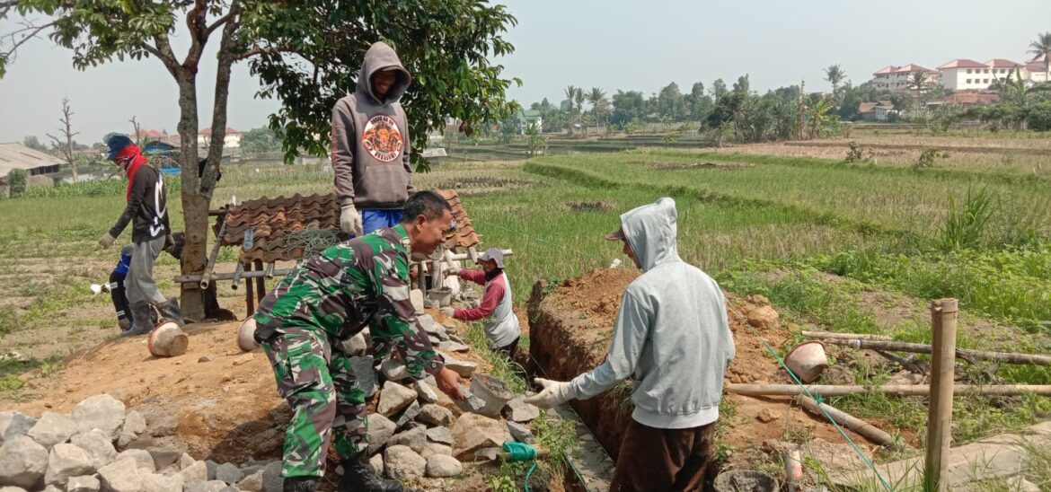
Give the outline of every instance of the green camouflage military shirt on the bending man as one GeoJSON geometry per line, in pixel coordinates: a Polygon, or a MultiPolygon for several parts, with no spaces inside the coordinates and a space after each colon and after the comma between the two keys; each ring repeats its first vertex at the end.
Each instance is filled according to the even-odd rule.
{"type": "Polygon", "coordinates": [[[294,328],[324,330],[343,341],[366,325],[374,356],[398,348],[410,376],[434,374],[444,362],[416,320],[409,298],[409,238],[405,227],[376,230],[332,246],[295,267],[260,303],[255,337],[294,328]]]}

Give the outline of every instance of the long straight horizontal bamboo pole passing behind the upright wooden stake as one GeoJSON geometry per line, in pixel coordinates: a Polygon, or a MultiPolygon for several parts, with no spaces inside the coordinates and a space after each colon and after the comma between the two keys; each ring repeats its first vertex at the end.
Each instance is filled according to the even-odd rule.
{"type": "MultiPolygon", "coordinates": [[[[888,385],[888,386],[839,386],[839,385],[742,385],[727,384],[723,386],[723,391],[747,396],[795,396],[806,394],[806,388],[810,394],[821,396],[847,396],[862,393],[884,393],[894,396],[927,396],[930,388],[923,385],[888,385]]],[[[1017,396],[1019,394],[1032,393],[1042,396],[1051,396],[1051,385],[955,385],[955,394],[981,394],[995,396],[1017,396]]]]}

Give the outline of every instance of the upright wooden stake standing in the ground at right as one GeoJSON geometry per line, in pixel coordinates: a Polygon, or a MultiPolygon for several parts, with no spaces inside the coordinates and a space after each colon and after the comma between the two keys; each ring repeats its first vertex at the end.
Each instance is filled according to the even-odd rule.
{"type": "Polygon", "coordinates": [[[930,404],[927,413],[927,459],[924,468],[928,491],[949,490],[949,446],[952,444],[952,392],[956,369],[956,315],[954,299],[930,303],[933,353],[930,357],[930,404]]]}

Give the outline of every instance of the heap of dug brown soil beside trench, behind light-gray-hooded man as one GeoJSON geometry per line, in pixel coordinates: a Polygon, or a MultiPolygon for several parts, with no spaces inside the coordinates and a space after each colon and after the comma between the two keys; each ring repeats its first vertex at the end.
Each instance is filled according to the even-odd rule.
{"type": "MultiPolygon", "coordinates": [[[[620,305],[620,295],[636,276],[627,269],[595,270],[560,284],[547,295],[547,286],[538,282],[529,302],[531,355],[549,377],[569,381],[601,364],[609,351],[613,323],[620,305]]],[[[755,331],[743,316],[767,305],[761,296],[737,299],[727,295],[727,309],[737,356],[730,364],[728,383],[790,383],[787,374],[766,351],[779,350],[790,342],[789,333],[780,324],[755,331]],[[757,336],[757,333],[759,336],[757,336]]],[[[726,444],[736,449],[749,449],[772,440],[824,438],[843,440],[830,424],[811,417],[788,397],[750,397],[727,395],[736,407],[735,414],[724,415],[728,433],[726,444]],[[762,414],[766,423],[760,422],[762,414]]],[[[574,403],[574,408],[611,455],[620,448],[630,413],[621,409],[620,397],[612,394],[574,403]]],[[[851,434],[856,442],[863,443],[851,434]]],[[[748,459],[748,453],[735,453],[730,460],[748,459]]]]}

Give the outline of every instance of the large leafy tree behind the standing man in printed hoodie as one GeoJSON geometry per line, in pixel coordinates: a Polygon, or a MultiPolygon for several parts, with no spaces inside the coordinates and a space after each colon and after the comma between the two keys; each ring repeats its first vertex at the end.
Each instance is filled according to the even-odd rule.
{"type": "MultiPolygon", "coordinates": [[[[270,127],[282,139],[287,159],[301,149],[328,152],[332,105],[353,90],[365,50],[377,40],[394,46],[415,75],[403,103],[417,150],[427,143],[428,128],[444,127],[446,117],[493,122],[514,107],[506,89],[517,79],[502,78],[503,67],[489,60],[514,49],[501,35],[516,21],[502,5],[482,0],[0,0],[0,18],[12,11],[44,15],[46,21],[27,21],[0,34],[0,76],[21,45],[47,34],[73,49],[78,69],[115,59],[153,58],[177,83],[184,274],[202,273],[207,263],[208,208],[223,155],[234,63],[250,64],[263,84],[260,97],[282,100],[270,127]],[[188,40],[185,54],[172,47],[174,36],[188,40]],[[197,75],[208,43],[219,44],[218,69],[212,138],[199,175],[197,75]]],[[[412,153],[414,163],[426,167],[419,156],[412,153]]],[[[218,307],[213,292],[205,294],[192,283],[183,284],[182,302],[183,312],[193,319],[218,307]]]]}

